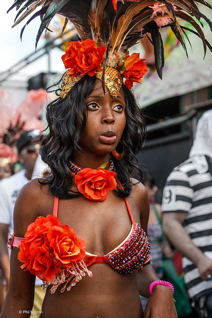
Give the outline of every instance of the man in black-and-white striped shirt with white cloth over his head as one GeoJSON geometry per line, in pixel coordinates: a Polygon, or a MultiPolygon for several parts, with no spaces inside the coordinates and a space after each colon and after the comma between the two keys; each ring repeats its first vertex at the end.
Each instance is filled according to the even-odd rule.
{"type": "Polygon", "coordinates": [[[189,159],[169,175],[163,229],[184,255],[185,283],[199,318],[212,317],[212,110],[200,118],[189,159]]]}

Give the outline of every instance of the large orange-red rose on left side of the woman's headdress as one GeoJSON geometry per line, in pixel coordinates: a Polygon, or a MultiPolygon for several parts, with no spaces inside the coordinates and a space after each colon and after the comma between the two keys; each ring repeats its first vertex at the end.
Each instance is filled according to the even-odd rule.
{"type": "Polygon", "coordinates": [[[97,47],[93,40],[72,41],[62,56],[69,75],[88,74],[94,76],[101,69],[106,46],[97,47]]]}

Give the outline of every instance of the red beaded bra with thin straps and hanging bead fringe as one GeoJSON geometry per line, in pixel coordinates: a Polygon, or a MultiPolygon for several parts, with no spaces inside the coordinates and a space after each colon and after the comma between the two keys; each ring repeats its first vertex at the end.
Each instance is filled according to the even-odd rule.
{"type": "MultiPolygon", "coordinates": [[[[140,270],[143,265],[150,260],[150,244],[148,237],[140,225],[134,221],[127,198],[125,198],[125,202],[132,221],[132,227],[126,239],[112,251],[103,256],[98,256],[85,251],[83,260],[76,264],[76,268],[72,268],[72,271],[68,270],[67,273],[62,270],[54,280],[51,282],[44,282],[44,289],[47,289],[47,287],[52,284],[53,286],[50,292],[53,294],[61,284],[66,283],[61,290],[61,292],[64,292],[67,288],[67,283],[71,281],[72,277],[75,277],[73,281],[71,281],[71,285],[67,288],[67,290],[70,290],[71,286],[74,286],[86,272],[92,277],[92,273],[87,268],[95,263],[107,263],[120,274],[129,274],[136,270],[140,270]]],[[[59,198],[55,197],[53,216],[56,218],[58,216],[58,205],[59,198]]],[[[8,247],[18,247],[22,240],[24,239],[12,237],[8,247]]]]}

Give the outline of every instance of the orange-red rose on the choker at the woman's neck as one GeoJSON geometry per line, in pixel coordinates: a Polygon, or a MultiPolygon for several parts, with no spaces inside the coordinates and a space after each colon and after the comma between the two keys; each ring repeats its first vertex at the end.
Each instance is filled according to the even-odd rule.
{"type": "Polygon", "coordinates": [[[117,186],[116,173],[104,168],[85,168],[74,176],[74,182],[79,192],[88,200],[104,201],[107,198],[108,190],[114,190],[117,186]]]}

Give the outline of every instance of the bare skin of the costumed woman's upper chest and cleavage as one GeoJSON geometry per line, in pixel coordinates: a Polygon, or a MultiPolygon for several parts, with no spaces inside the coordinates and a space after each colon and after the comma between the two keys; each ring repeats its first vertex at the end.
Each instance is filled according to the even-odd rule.
{"type": "Polygon", "coordinates": [[[91,202],[83,197],[60,199],[57,216],[61,224],[69,225],[85,240],[86,251],[105,255],[127,238],[133,220],[140,223],[140,213],[134,206],[114,193],[103,202],[91,202]]]}

